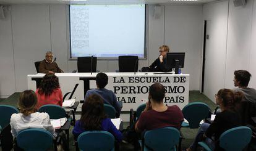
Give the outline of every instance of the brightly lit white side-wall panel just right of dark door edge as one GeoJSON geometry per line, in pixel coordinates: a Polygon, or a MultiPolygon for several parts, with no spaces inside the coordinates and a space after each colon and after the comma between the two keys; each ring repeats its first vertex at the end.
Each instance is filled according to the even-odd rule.
{"type": "Polygon", "coordinates": [[[203,6],[203,20],[207,20],[205,47],[205,79],[203,93],[211,100],[224,88],[226,67],[226,36],[228,25],[228,1],[203,6]]]}

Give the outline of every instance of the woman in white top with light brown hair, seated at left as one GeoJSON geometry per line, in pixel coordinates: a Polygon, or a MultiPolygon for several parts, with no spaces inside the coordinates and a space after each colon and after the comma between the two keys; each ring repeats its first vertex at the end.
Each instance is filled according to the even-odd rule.
{"type": "MultiPolygon", "coordinates": [[[[13,137],[23,129],[41,128],[54,134],[54,128],[47,113],[36,112],[36,94],[32,90],[23,91],[19,98],[20,113],[11,116],[11,133],[13,137]]],[[[56,136],[54,134],[54,136],[56,136]]]]}

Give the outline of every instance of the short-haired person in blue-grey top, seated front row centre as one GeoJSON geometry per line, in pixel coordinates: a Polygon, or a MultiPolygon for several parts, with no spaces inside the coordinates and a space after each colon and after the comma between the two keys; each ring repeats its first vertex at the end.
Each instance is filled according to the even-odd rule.
{"type": "Polygon", "coordinates": [[[117,102],[116,95],[113,91],[105,89],[105,86],[108,84],[108,75],[105,73],[98,73],[96,75],[96,89],[90,89],[85,94],[85,101],[86,99],[92,95],[97,94],[98,96],[101,96],[104,104],[112,105],[116,109],[116,116],[119,117],[121,113],[121,107],[119,103],[117,102]]]}

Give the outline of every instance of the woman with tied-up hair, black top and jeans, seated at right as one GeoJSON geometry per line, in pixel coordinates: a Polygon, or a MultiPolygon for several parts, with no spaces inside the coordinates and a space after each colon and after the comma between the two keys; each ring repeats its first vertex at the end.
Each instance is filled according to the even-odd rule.
{"type": "Polygon", "coordinates": [[[237,106],[244,95],[231,89],[220,89],[215,94],[216,104],[220,105],[221,112],[216,114],[213,123],[203,123],[198,130],[194,142],[187,151],[197,150],[197,143],[205,140],[211,150],[223,150],[218,144],[221,134],[231,128],[241,126],[241,116],[237,106]]]}

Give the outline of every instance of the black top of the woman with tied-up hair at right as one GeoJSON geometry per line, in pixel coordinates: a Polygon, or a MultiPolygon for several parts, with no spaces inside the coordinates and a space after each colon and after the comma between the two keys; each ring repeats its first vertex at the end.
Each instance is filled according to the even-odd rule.
{"type": "Polygon", "coordinates": [[[231,128],[241,126],[241,116],[239,113],[232,110],[224,110],[216,115],[215,120],[207,131],[205,132],[206,136],[211,138],[215,137],[215,150],[221,150],[219,141],[221,134],[231,128]]]}

